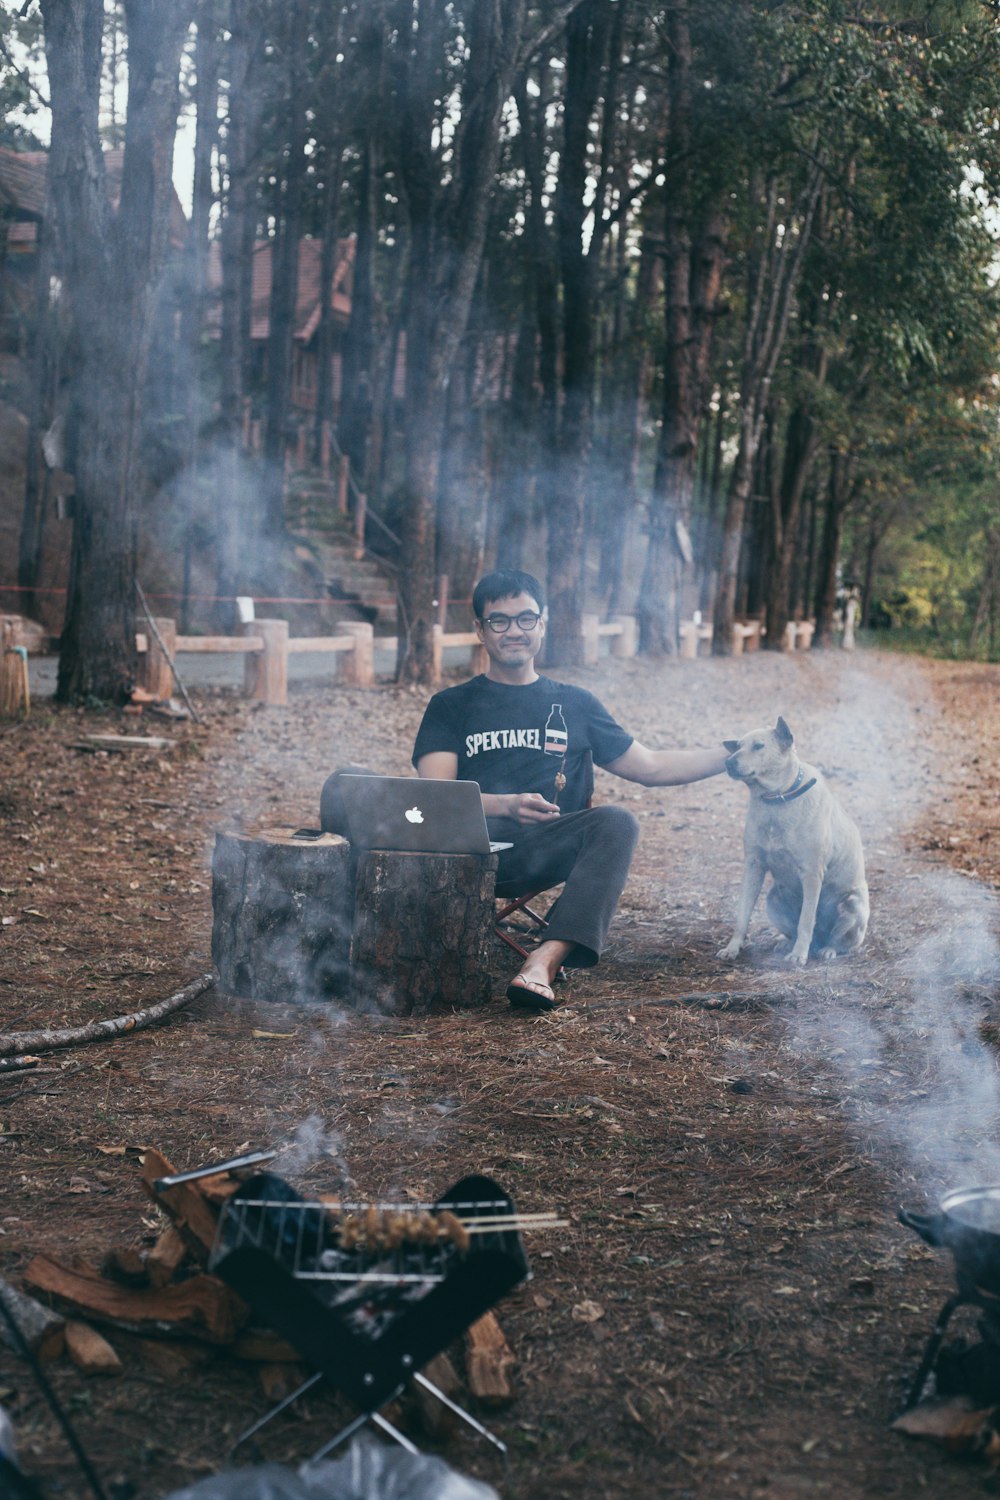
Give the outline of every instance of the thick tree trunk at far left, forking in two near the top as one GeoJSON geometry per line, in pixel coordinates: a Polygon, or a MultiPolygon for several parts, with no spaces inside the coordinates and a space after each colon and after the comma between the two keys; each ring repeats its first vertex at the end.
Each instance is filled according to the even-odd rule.
{"type": "Polygon", "coordinates": [[[117,212],[100,148],[102,0],[42,0],[51,195],[72,308],[75,512],[63,700],[114,700],[135,669],[136,436],[171,202],[180,50],[193,0],[126,0],[129,93],[117,212]]]}

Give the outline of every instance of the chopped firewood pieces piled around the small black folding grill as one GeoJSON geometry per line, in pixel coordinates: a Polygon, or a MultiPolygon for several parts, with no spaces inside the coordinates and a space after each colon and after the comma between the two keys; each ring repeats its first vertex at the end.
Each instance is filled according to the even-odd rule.
{"type": "MultiPolygon", "coordinates": [[[[39,1254],[22,1272],[24,1290],[0,1280],[0,1298],[40,1362],[67,1354],[84,1374],[118,1374],[121,1359],[105,1336],[117,1330],[130,1335],[129,1348],[138,1347],[157,1371],[180,1372],[213,1353],[252,1364],[270,1400],[304,1378],[294,1368],[300,1354],[276,1332],[253,1326],[246,1302],[205,1269],[220,1209],[246,1173],[160,1184],[174,1174],[162,1152],[144,1149],[142,1190],[163,1215],[150,1250],[111,1248],[100,1266],[39,1254]]],[[[1,1318],[0,1340],[16,1347],[1,1318]]],[[[453,1398],[465,1384],[483,1406],[510,1404],[514,1356],[495,1316],[474,1323],[465,1341],[465,1382],[447,1354],[432,1360],[429,1377],[453,1398]]],[[[420,1388],[414,1395],[427,1432],[439,1437],[451,1430],[451,1414],[436,1398],[420,1388]]]]}

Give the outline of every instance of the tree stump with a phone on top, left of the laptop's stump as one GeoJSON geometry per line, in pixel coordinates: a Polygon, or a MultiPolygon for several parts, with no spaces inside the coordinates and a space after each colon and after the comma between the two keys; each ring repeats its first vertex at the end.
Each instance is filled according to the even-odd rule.
{"type": "Polygon", "coordinates": [[[216,834],[211,958],[229,994],[309,1005],[348,988],[351,846],[292,832],[216,834]]]}

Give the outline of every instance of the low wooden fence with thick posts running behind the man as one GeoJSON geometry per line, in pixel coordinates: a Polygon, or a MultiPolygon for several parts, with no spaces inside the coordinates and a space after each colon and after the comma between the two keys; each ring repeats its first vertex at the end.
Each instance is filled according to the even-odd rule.
{"type": "MultiPolygon", "coordinates": [[[[288,657],[315,656],[328,652],[337,658],[337,682],[352,687],[372,687],[375,682],[375,646],[382,651],[397,651],[396,636],[379,636],[361,621],[339,624],[336,636],[289,636],[286,620],[250,620],[244,626],[241,636],[178,636],[174,620],[156,620],[160,640],[175,657],[181,652],[220,652],[241,654],[244,658],[244,692],[261,704],[283,705],[288,702],[288,657]]],[[[811,621],[790,622],[786,632],[786,650],[807,651],[813,644],[814,626],[811,621]]],[[[756,651],[760,645],[763,627],[760,621],[739,622],[733,627],[733,654],[756,651]]],[[[594,666],[600,660],[601,640],[607,639],[610,652],[615,657],[634,657],[639,645],[639,630],[634,615],[615,615],[613,620],[601,620],[600,615],[585,614],[582,622],[583,664],[594,666]]],[[[685,620],[681,626],[681,656],[697,657],[699,652],[711,650],[712,626],[694,620],[685,620]]],[[[169,698],[174,692],[174,674],[169,660],[160,650],[151,632],[147,633],[145,621],[135,636],[139,652],[141,686],[154,698],[169,698]]],[[[486,651],[478,636],[472,630],[445,630],[433,626],[432,654],[433,675],[441,678],[445,648],[468,646],[469,670],[484,672],[487,666],[486,651]]]]}

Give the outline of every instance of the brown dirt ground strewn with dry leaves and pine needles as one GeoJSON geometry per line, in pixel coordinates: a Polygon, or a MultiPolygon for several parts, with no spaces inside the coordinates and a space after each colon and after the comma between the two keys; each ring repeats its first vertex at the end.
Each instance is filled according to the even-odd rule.
{"type": "MultiPolygon", "coordinates": [[[[651,746],[784,714],[862,830],[862,952],[792,970],[759,912],[721,963],[744,789],[598,772],[643,837],[610,952],[559,1011],[510,1011],[498,945],[486,1010],[384,1020],[208,992],[159,1028],[0,1074],[0,1274],[151,1244],[120,1148],[189,1167],[288,1146],[277,1167],[298,1186],[349,1179],[360,1198],[433,1198],[483,1170],[568,1227],[526,1236],[532,1280],[498,1308],[517,1400],[487,1420],[510,1479],[474,1437],[442,1449],[456,1468],[519,1500],[1000,1492],[982,1460],[889,1426],[954,1286],[897,1209],[1000,1180],[1000,669],[811,652],[564,675],[651,746]]],[[[142,726],[177,741],[163,756],[72,748],[114,717],[42,708],[0,728],[4,1032],[118,1016],[207,972],[214,831],[315,822],[346,760],[406,772],[424,694],[196,702],[202,726],[142,726]]],[[[972,1314],[955,1329],[972,1335],[972,1314]]],[[[264,1410],[255,1370],[219,1354],[178,1374],[109,1336],[117,1378],[48,1370],[115,1500],[222,1467],[264,1410]]],[[[0,1404],[46,1492],[85,1494],[1,1347],[0,1404]]],[[[309,1396],[262,1454],[298,1462],[348,1414],[309,1396]]]]}

